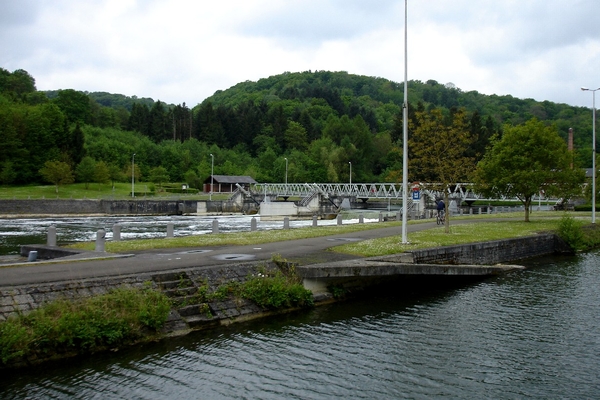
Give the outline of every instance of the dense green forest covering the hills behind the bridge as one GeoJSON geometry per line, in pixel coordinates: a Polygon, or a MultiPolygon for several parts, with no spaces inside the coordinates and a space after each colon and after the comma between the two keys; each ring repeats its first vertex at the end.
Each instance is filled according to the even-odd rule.
{"type": "MultiPolygon", "coordinates": [[[[434,80],[410,81],[408,89],[409,126],[417,111],[440,110],[450,121],[464,110],[476,158],[504,126],[537,118],[565,140],[573,128],[575,158],[591,166],[587,108],[463,92],[434,80]]],[[[160,175],[200,187],[211,154],[215,174],[259,182],[282,182],[286,164],[289,182],[348,181],[350,163],[353,182],[399,182],[402,102],[403,84],[347,72],[241,82],[190,108],[105,92],[40,92],[27,71],[0,68],[0,183],[43,182],[47,161],[68,164],[80,181],[127,180],[135,160],[138,179],[160,175]],[[85,173],[94,166],[102,173],[85,173]]]]}

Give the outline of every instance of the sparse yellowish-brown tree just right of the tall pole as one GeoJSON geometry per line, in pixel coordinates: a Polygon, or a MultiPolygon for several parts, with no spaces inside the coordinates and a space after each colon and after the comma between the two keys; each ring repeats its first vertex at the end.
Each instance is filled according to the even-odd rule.
{"type": "Polygon", "coordinates": [[[448,192],[451,185],[464,181],[475,167],[473,157],[466,155],[473,137],[469,134],[466,113],[458,110],[445,121],[440,109],[417,112],[417,128],[409,142],[412,157],[409,167],[417,179],[425,178],[431,188],[444,193],[446,233],[450,232],[448,192]]]}

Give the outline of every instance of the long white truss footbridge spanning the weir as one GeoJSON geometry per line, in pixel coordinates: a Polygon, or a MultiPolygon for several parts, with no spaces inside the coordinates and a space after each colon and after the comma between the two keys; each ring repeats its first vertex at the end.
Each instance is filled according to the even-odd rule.
{"type": "MultiPolygon", "coordinates": [[[[412,200],[413,189],[420,190],[421,197],[428,196],[430,199],[443,197],[440,190],[434,189],[437,185],[431,183],[419,183],[409,185],[409,199],[412,200]]],[[[515,197],[489,198],[473,190],[472,183],[459,183],[449,190],[452,199],[463,201],[520,201],[515,197]]],[[[350,197],[361,200],[373,199],[402,199],[402,185],[398,183],[257,183],[250,186],[251,194],[269,197],[299,197],[308,198],[316,194],[327,197],[350,197]]],[[[555,200],[542,195],[534,196],[533,201],[555,200]]]]}

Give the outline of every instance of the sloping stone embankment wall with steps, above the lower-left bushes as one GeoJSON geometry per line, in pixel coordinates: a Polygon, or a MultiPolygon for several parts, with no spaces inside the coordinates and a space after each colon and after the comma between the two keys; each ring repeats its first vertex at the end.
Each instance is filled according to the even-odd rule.
{"type": "Polygon", "coordinates": [[[197,328],[199,325],[228,323],[229,320],[247,318],[250,315],[260,314],[264,310],[245,300],[235,303],[214,301],[200,304],[194,302],[198,298],[194,295],[199,288],[206,284],[208,284],[210,292],[225,283],[244,282],[249,275],[257,273],[259,267],[273,268],[264,262],[255,262],[39,285],[0,287],[0,321],[6,320],[11,315],[27,313],[44,303],[57,299],[75,300],[104,294],[120,287],[151,287],[167,294],[175,304],[164,328],[164,334],[187,331],[197,328]]]}

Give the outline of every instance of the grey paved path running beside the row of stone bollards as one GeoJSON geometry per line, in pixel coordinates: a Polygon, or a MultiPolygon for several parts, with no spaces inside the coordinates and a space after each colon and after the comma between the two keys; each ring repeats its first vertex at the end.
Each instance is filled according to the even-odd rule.
{"type": "MultiPolygon", "coordinates": [[[[482,222],[483,220],[476,221],[482,222]]],[[[475,220],[457,220],[452,221],[452,224],[472,222],[475,220]]],[[[435,221],[408,225],[408,232],[431,229],[436,226],[435,221]]],[[[55,259],[53,262],[0,265],[0,286],[129,275],[187,267],[208,267],[239,263],[240,261],[270,260],[273,254],[280,254],[286,260],[300,265],[350,260],[361,257],[331,252],[327,249],[350,241],[395,235],[398,236],[398,240],[401,240],[401,234],[401,227],[397,226],[257,245],[155,249],[129,255],[87,252],[80,256],[55,259]]]]}

